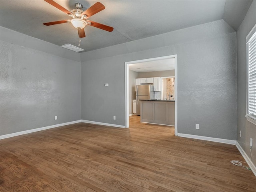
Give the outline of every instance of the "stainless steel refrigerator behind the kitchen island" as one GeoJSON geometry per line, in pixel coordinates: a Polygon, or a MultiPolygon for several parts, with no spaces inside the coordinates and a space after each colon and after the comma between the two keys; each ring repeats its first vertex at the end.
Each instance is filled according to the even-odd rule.
{"type": "Polygon", "coordinates": [[[152,85],[137,85],[136,89],[136,114],[140,115],[140,99],[150,100],[153,98],[152,85]]]}

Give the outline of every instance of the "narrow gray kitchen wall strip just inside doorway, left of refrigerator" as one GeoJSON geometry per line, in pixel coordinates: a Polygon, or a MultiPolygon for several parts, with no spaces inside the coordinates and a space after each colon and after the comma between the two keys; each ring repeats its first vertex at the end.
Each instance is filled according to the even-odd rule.
{"type": "Polygon", "coordinates": [[[137,78],[138,73],[132,70],[129,70],[129,114],[132,113],[132,99],[136,99],[135,92],[135,79],[137,78]]]}

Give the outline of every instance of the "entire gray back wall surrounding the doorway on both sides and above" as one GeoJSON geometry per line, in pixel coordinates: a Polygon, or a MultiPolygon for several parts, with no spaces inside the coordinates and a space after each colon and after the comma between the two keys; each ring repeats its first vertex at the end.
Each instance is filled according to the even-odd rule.
{"type": "Polygon", "coordinates": [[[125,62],[173,54],[178,132],[236,140],[236,32],[224,20],[82,53],[82,119],[125,125],[125,62]]]}

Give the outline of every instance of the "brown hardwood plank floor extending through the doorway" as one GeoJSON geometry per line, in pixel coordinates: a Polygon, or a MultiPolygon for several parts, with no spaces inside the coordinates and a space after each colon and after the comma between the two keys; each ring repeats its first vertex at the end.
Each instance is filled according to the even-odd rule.
{"type": "Polygon", "coordinates": [[[78,123],[0,140],[1,192],[255,192],[236,146],[174,128],[78,123]]]}

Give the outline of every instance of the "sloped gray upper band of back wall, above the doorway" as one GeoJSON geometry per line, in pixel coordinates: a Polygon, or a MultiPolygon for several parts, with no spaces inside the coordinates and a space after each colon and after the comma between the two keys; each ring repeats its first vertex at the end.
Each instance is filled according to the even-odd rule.
{"type": "MultiPolygon", "coordinates": [[[[211,38],[213,36],[218,36],[220,34],[228,34],[230,32],[235,32],[224,20],[218,20],[202,25],[197,25],[189,28],[184,28],[181,30],[176,30],[172,32],[168,32],[161,35],[156,35],[132,42],[127,42],[123,44],[118,44],[114,46],[110,46],[107,48],[102,48],[94,51],[88,51],[82,53],[81,62],[86,62],[90,60],[96,59],[104,59],[112,56],[121,56],[125,54],[134,53],[134,55],[130,55],[132,61],[134,58],[139,58],[137,56],[138,52],[144,52],[145,50],[151,50],[156,48],[162,48],[166,46],[168,49],[169,46],[188,43],[192,41],[196,41],[203,38],[211,38]]],[[[140,55],[140,58],[154,58],[155,55],[152,54],[140,55]]],[[[162,54],[164,55],[164,54],[162,54]]],[[[168,53],[167,55],[170,55],[168,53]]],[[[129,58],[128,58],[129,59],[129,58]]],[[[129,61],[129,60],[128,60],[129,61]]],[[[131,61],[131,60],[130,60],[131,61]]]]}

